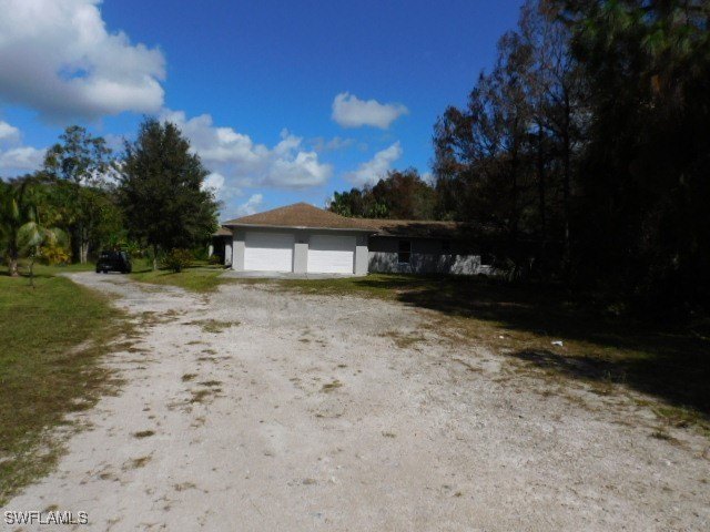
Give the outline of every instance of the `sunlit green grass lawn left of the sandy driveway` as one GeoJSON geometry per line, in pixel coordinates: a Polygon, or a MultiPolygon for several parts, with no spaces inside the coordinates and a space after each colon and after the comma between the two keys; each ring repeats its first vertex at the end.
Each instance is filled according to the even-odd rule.
{"type": "Polygon", "coordinates": [[[122,315],[54,275],[92,267],[38,266],[36,288],[26,277],[0,274],[0,505],[53,466],[60,443],[51,428],[106,389],[97,362],[122,315]]]}

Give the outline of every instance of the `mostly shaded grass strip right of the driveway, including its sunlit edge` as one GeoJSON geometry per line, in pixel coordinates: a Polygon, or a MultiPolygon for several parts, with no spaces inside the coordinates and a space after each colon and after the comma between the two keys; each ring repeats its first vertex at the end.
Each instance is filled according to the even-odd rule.
{"type": "Polygon", "coordinates": [[[599,393],[616,383],[656,396],[668,423],[710,434],[710,334],[605,315],[561,289],[496,279],[379,275],[317,280],[255,280],[306,294],[377,297],[434,310],[430,327],[453,329],[550,379],[580,379],[599,393]],[[555,346],[552,341],[562,340],[555,346]]]}

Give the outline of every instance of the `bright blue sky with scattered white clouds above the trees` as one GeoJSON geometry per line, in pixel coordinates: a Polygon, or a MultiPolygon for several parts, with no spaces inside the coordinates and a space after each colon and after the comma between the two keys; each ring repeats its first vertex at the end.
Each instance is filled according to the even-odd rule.
{"type": "Polygon", "coordinates": [[[223,217],[390,168],[430,171],[521,1],[0,0],[0,175],[69,124],[119,146],[144,114],[190,137],[223,217]]]}

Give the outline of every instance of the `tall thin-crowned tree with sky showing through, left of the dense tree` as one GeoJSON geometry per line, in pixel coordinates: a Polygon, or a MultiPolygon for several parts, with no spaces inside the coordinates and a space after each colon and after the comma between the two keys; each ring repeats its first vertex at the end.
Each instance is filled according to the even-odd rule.
{"type": "Polygon", "coordinates": [[[44,157],[44,174],[57,181],[54,191],[63,196],[64,224],[72,238],[74,259],[85,264],[90,244],[97,241],[95,228],[101,225],[106,175],[112,172],[111,150],[100,136],[84,127],[72,125],[60,136],[44,157]]]}

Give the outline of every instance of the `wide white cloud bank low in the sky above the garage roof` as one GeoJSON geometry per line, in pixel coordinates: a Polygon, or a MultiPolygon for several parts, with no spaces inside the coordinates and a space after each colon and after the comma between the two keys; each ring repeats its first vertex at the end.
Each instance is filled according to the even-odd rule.
{"type": "Polygon", "coordinates": [[[324,184],[333,174],[329,164],[321,163],[317,153],[305,149],[303,139],[287,130],[270,149],[232,127],[215,126],[209,114],[187,119],[182,111],[165,110],[161,119],[174,123],[190,139],[205,166],[224,177],[223,188],[307,188],[324,184]]]}

